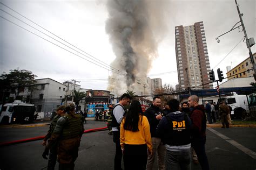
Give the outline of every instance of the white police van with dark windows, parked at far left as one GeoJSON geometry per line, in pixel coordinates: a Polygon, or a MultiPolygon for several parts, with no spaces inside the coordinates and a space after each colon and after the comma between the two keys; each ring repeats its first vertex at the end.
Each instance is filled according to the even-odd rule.
{"type": "Polygon", "coordinates": [[[6,103],[2,107],[0,122],[8,123],[30,123],[34,119],[36,107],[34,104],[23,103],[22,101],[14,101],[6,103]]]}

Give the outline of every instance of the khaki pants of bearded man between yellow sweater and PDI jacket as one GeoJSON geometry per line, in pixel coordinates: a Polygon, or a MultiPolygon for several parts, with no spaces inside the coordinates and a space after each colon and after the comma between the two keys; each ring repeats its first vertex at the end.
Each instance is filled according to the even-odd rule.
{"type": "Polygon", "coordinates": [[[147,170],[153,169],[154,158],[158,154],[158,169],[165,169],[165,145],[161,143],[160,138],[152,138],[153,153],[147,157],[147,170]]]}

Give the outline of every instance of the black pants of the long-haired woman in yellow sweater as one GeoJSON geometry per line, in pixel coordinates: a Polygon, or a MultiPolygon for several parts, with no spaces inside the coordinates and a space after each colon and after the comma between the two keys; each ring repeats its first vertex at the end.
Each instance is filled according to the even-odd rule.
{"type": "Polygon", "coordinates": [[[147,145],[124,145],[124,169],[146,169],[147,145]]]}

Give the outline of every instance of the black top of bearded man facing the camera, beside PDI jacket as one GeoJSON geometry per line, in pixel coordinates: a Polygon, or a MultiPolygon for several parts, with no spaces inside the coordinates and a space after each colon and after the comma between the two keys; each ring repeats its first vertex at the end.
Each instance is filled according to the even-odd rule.
{"type": "Polygon", "coordinates": [[[156,134],[157,125],[160,122],[160,120],[158,120],[156,116],[159,114],[161,114],[160,108],[155,107],[153,104],[151,104],[150,108],[147,109],[144,113],[144,116],[147,117],[147,120],[149,121],[149,124],[150,124],[151,137],[157,137],[157,138],[159,137],[156,134]]]}

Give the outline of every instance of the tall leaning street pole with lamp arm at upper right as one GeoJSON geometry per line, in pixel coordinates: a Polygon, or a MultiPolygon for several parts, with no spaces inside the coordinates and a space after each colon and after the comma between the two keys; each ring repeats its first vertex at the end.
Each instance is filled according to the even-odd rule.
{"type": "MultiPolygon", "coordinates": [[[[244,16],[243,13],[240,13],[240,10],[239,10],[239,4],[237,3],[237,0],[235,0],[235,5],[237,6],[237,11],[238,11],[238,15],[239,15],[239,18],[240,18],[240,21],[237,22],[230,31],[233,31],[235,29],[240,29],[240,26],[242,26],[242,31],[244,31],[244,34],[245,34],[245,39],[246,39],[246,46],[247,48],[249,49],[249,54],[250,54],[250,59],[252,61],[252,65],[253,65],[253,70],[254,70],[254,80],[256,80],[256,65],[255,65],[255,62],[254,62],[254,59],[253,59],[253,55],[252,55],[252,51],[251,51],[251,47],[255,44],[254,42],[254,39],[253,38],[250,38],[248,39],[247,37],[247,33],[246,33],[246,30],[245,30],[245,25],[244,25],[244,22],[242,21],[242,16],[244,16]],[[235,27],[238,23],[241,23],[241,25],[235,27]]],[[[230,32],[230,31],[227,31],[225,32],[224,34],[230,32]]],[[[223,36],[224,34],[221,34],[219,37],[223,36]]],[[[219,43],[220,40],[219,40],[219,37],[216,38],[217,42],[219,43]]]]}

